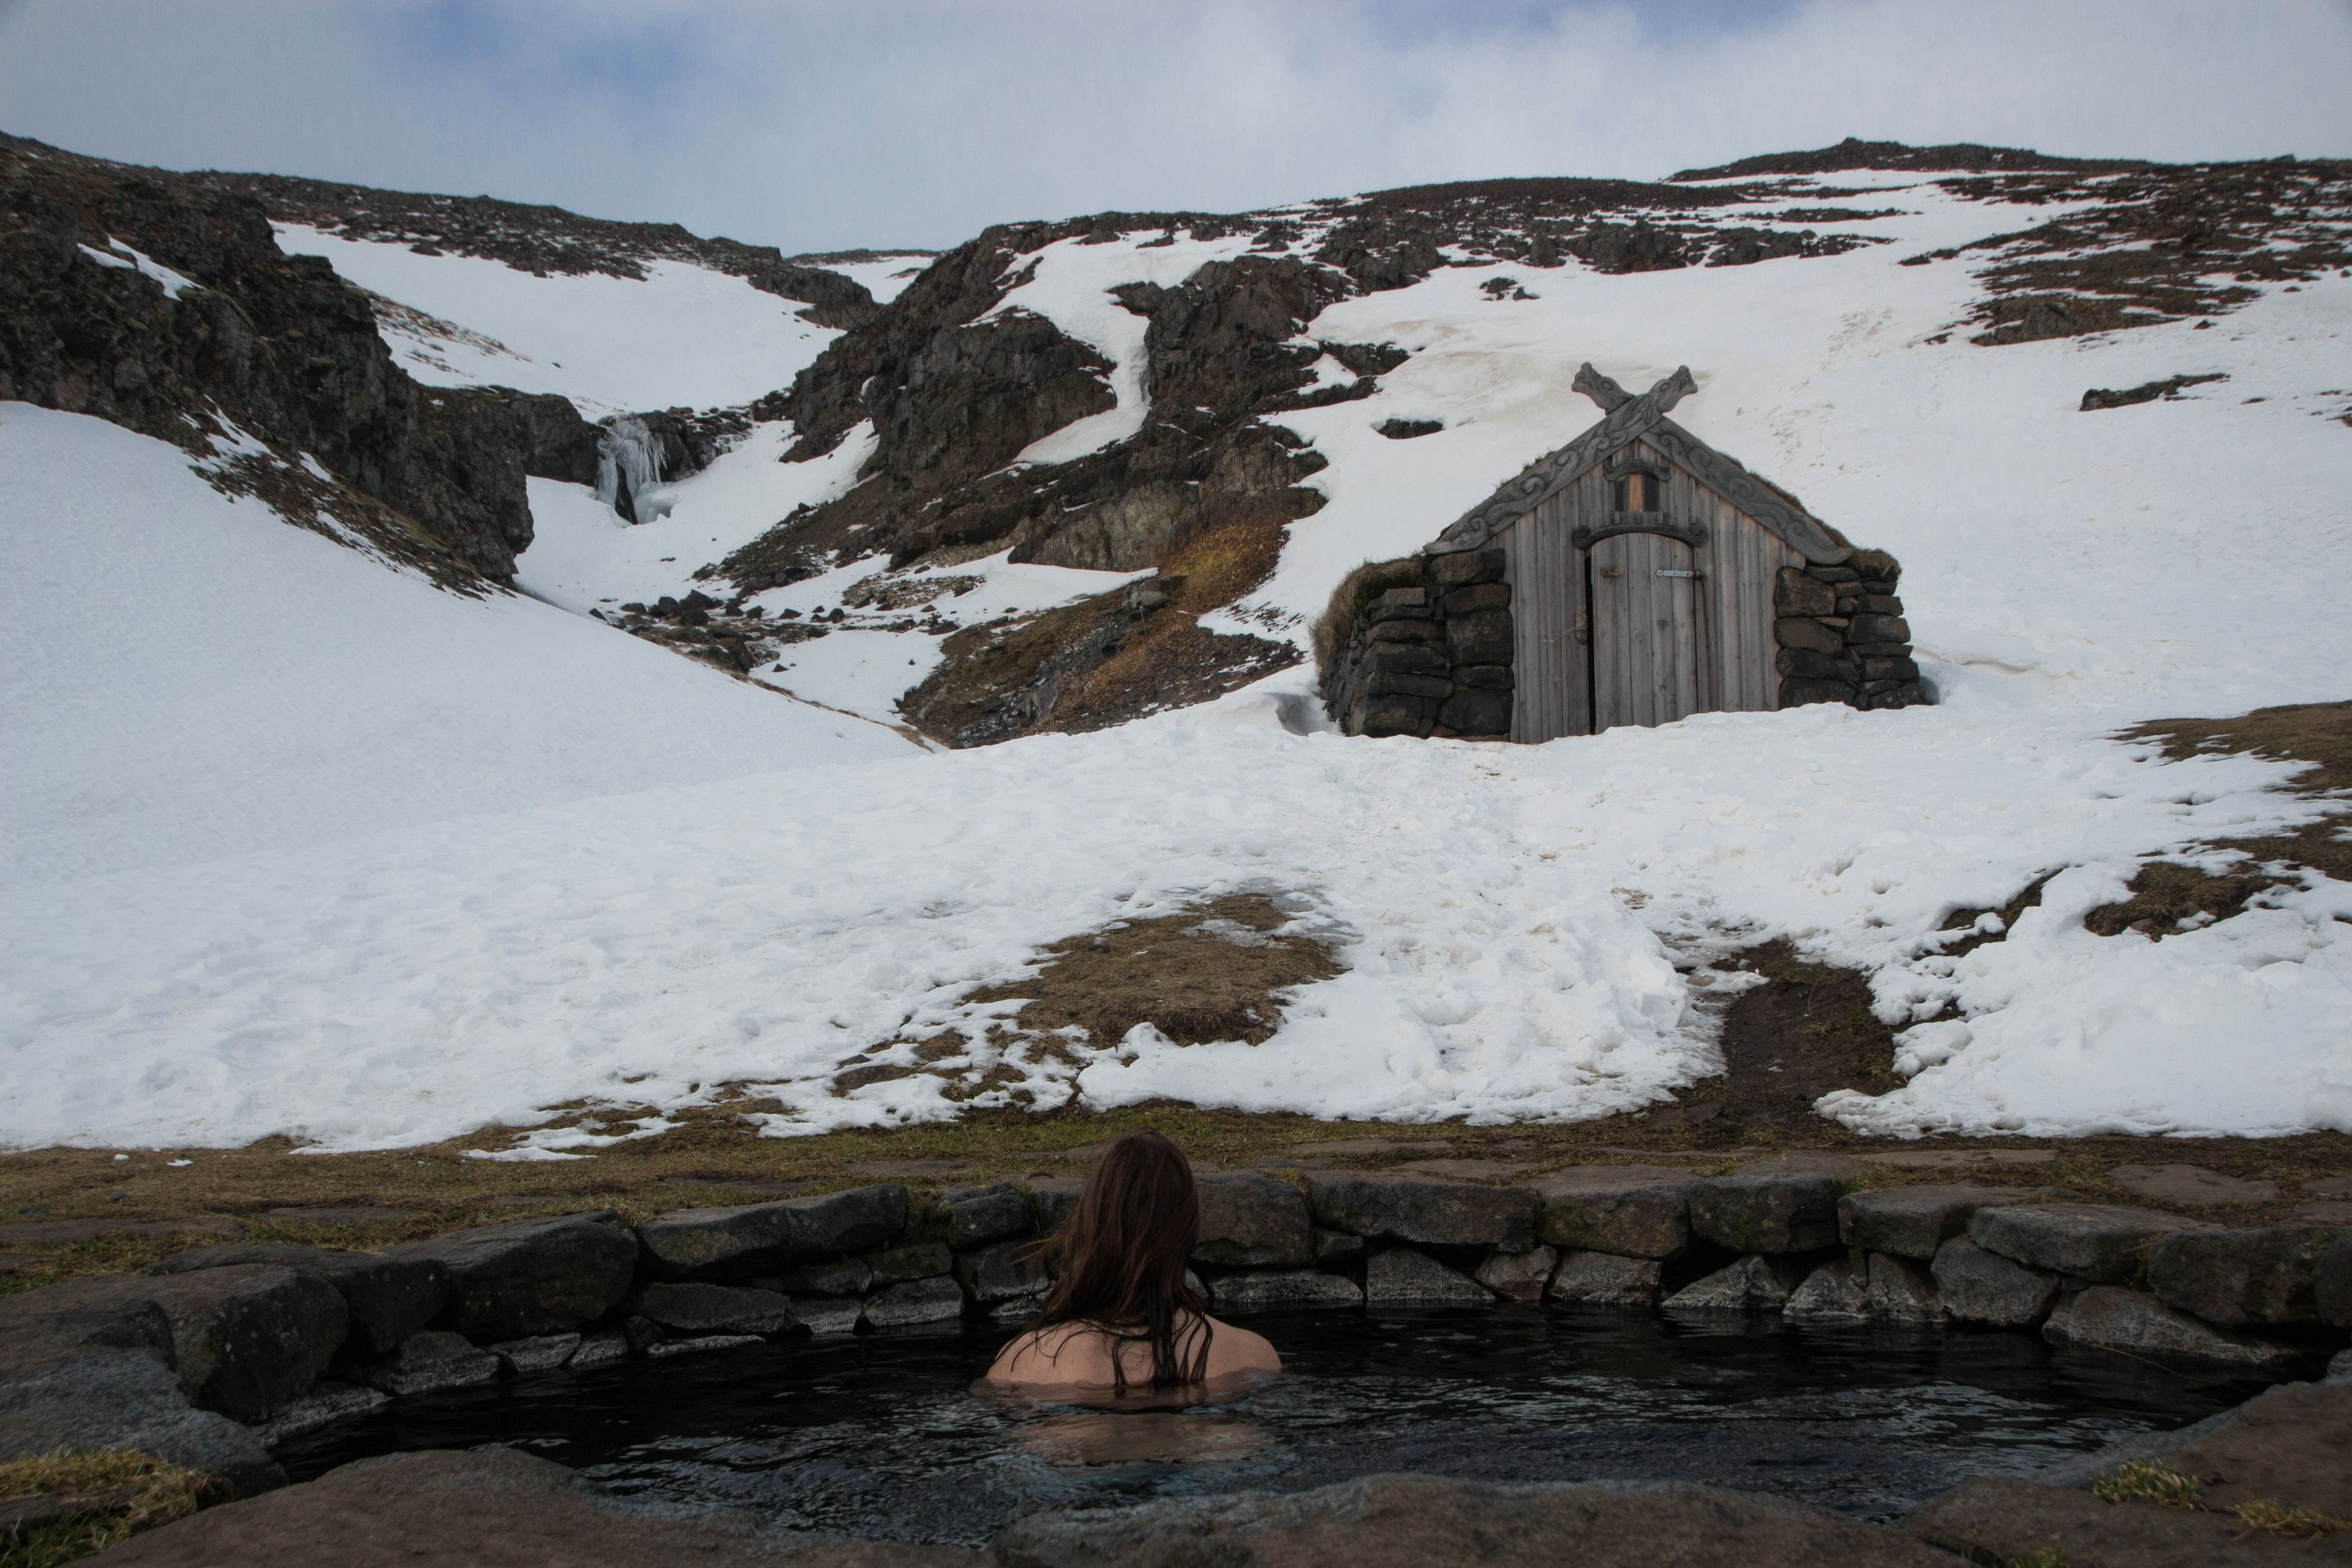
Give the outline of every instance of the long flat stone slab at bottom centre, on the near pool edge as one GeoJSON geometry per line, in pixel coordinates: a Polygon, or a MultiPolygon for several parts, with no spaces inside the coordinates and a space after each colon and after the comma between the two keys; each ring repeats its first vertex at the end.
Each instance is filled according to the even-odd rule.
{"type": "Polygon", "coordinates": [[[1310,1493],[1167,1497],[1035,1514],[995,1544],[1002,1568],[1952,1568],[1896,1530],[1679,1481],[1491,1486],[1364,1476],[1310,1493]]]}

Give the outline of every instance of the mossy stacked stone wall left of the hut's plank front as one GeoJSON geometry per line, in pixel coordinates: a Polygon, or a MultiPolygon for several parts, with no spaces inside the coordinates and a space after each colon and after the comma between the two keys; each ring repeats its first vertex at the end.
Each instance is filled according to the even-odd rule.
{"type": "Polygon", "coordinates": [[[1510,583],[1501,550],[1423,555],[1381,569],[1324,658],[1324,710],[1350,736],[1508,741],[1510,583]],[[1402,581],[1411,578],[1411,581],[1402,581]]]}

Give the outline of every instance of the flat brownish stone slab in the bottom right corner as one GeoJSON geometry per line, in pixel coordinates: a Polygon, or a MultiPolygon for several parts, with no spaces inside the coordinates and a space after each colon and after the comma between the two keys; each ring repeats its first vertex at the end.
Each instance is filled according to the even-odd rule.
{"type": "Polygon", "coordinates": [[[2263,1568],[2345,1561],[2338,1554],[2314,1554],[2314,1542],[2251,1533],[2230,1514],[2103,1502],[2070,1486],[1994,1476],[1962,1481],[1915,1509],[1903,1528],[1912,1540],[1952,1552],[1943,1561],[1955,1566],[2263,1568]]]}

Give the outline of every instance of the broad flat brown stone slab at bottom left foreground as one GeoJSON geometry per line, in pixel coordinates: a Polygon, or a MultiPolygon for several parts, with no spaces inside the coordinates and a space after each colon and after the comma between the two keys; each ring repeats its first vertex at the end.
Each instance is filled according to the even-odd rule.
{"type": "Polygon", "coordinates": [[[360,1460],[306,1486],[134,1535],[92,1561],[108,1568],[981,1568],[978,1552],[955,1547],[762,1537],[746,1514],[626,1512],[576,1488],[562,1465],[513,1448],[360,1460]]]}

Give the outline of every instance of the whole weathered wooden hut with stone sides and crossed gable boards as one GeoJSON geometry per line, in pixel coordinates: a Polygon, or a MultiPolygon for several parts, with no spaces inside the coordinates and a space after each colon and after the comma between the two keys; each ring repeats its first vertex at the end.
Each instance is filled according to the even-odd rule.
{"type": "Polygon", "coordinates": [[[1668,418],[1689,367],[1421,555],[1357,569],[1317,625],[1324,705],[1359,736],[1552,741],[1689,712],[1924,703],[1900,567],[1668,418]]]}

